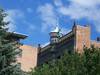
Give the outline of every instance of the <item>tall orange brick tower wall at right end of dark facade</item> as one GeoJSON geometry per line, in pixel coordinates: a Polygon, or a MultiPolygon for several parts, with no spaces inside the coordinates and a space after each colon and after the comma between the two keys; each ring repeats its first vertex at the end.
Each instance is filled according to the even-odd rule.
{"type": "Polygon", "coordinates": [[[90,27],[77,25],[74,28],[75,33],[75,51],[83,52],[83,47],[90,47],[90,27]]]}

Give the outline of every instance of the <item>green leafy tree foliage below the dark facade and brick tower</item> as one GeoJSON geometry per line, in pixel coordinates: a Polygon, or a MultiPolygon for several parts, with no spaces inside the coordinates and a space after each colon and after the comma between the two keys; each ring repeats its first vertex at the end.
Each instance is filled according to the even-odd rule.
{"type": "Polygon", "coordinates": [[[55,64],[43,64],[30,75],[100,75],[100,48],[85,48],[83,54],[65,53],[55,64]]]}

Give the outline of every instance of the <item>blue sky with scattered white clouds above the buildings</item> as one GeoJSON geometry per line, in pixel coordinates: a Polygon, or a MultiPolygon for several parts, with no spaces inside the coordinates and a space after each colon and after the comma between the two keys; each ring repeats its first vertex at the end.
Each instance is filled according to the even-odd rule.
{"type": "Polygon", "coordinates": [[[8,14],[9,31],[28,36],[24,44],[45,45],[57,25],[66,34],[74,21],[91,26],[92,40],[100,36],[100,0],[0,0],[0,7],[8,14]]]}

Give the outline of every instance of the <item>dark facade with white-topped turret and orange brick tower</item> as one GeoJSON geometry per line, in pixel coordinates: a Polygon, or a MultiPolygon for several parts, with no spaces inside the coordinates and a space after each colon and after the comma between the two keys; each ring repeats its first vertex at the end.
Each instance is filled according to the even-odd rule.
{"type": "Polygon", "coordinates": [[[89,25],[75,25],[66,35],[61,36],[59,28],[50,32],[50,44],[45,47],[38,46],[37,66],[60,58],[65,51],[83,53],[83,48],[91,45],[100,48],[100,38],[97,41],[90,39],[91,29],[89,25]]]}

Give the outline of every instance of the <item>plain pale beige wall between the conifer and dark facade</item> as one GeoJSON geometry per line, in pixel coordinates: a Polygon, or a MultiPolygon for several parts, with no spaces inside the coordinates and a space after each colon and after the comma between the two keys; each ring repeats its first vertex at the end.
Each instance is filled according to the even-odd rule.
{"type": "Polygon", "coordinates": [[[21,69],[26,72],[30,71],[37,65],[37,48],[28,45],[23,45],[20,48],[22,56],[18,58],[18,62],[21,63],[21,69]]]}

